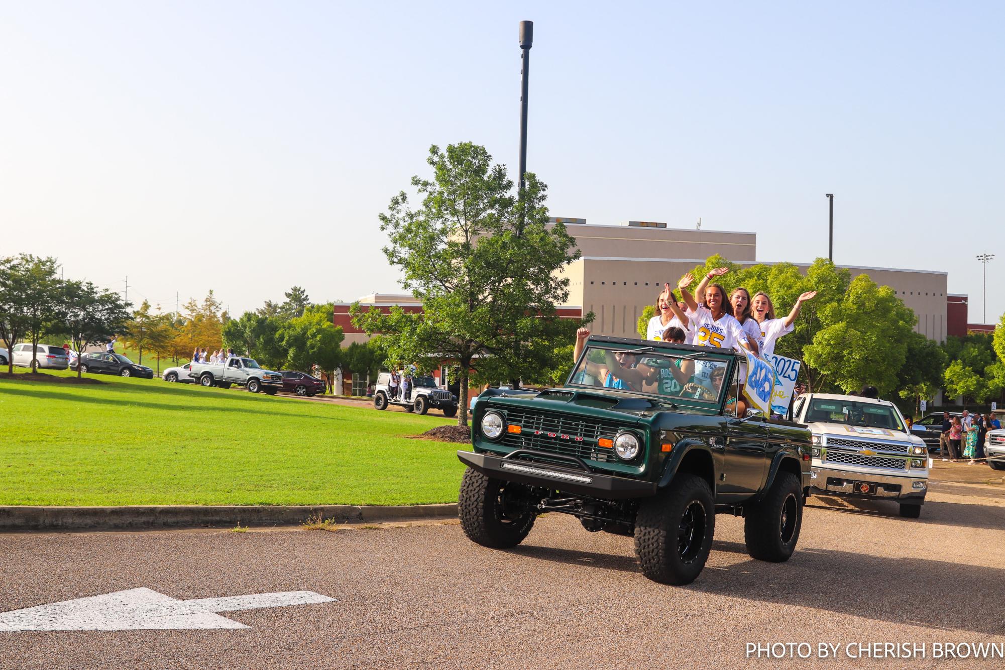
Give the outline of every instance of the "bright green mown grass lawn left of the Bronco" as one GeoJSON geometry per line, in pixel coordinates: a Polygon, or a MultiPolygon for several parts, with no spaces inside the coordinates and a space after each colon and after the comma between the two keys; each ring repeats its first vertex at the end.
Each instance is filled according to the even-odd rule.
{"type": "Polygon", "coordinates": [[[238,387],[94,378],[105,384],[0,379],[0,504],[457,499],[461,445],[404,437],[452,420],[238,387]]]}

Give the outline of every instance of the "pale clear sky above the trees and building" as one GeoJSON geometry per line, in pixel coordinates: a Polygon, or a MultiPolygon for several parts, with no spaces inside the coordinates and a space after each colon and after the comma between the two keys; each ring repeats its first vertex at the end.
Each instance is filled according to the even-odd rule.
{"type": "MultiPolygon", "coordinates": [[[[173,309],[397,292],[377,215],[429,145],[553,215],[758,233],[758,260],[942,270],[1005,311],[1005,5],[0,3],[0,254],[173,309]],[[812,6],[811,6],[812,5],[812,6]],[[513,175],[516,179],[516,175],[513,175]]],[[[669,278],[668,280],[672,280],[669,278]]]]}

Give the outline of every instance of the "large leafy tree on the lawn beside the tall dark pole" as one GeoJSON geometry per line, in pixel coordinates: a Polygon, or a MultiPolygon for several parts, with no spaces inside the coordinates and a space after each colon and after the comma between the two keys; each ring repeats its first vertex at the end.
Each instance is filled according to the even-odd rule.
{"type": "MultiPolygon", "coordinates": [[[[564,226],[546,226],[546,187],[532,173],[524,197],[513,195],[506,167],[483,147],[431,147],[433,179],[412,178],[422,198],[412,210],[401,192],[380,216],[384,253],[401,268],[402,286],[422,300],[422,313],[394,307],[351,309],[354,324],[385,333],[392,360],[459,369],[458,402],[467,406],[470,375],[530,377],[554,352],[562,323],[555,306],[569,294],[555,270],[579,257],[564,226]],[[547,354],[546,354],[547,352],[547,354]]],[[[572,320],[572,319],[567,319],[572,320]]],[[[467,425],[466,412],[457,424],[467,425]]]]}

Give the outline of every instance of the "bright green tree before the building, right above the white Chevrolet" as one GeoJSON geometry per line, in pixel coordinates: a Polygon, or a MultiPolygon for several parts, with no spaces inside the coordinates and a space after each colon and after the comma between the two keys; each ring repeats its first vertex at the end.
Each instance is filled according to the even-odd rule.
{"type": "Polygon", "coordinates": [[[860,274],[839,303],[824,309],[820,320],[823,327],[803,355],[821,376],[845,393],[866,384],[883,394],[896,390],[918,317],[892,288],[877,286],[860,274]]]}

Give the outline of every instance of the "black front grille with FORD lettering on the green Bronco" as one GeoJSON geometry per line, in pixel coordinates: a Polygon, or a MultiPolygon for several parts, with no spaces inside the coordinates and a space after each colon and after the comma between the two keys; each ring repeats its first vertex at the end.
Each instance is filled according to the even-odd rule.
{"type": "Polygon", "coordinates": [[[613,440],[624,428],[611,421],[526,410],[508,411],[507,421],[521,427],[519,435],[504,433],[501,444],[508,447],[550,451],[595,461],[617,460],[614,449],[598,446],[597,440],[601,437],[613,440]]]}

